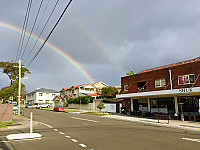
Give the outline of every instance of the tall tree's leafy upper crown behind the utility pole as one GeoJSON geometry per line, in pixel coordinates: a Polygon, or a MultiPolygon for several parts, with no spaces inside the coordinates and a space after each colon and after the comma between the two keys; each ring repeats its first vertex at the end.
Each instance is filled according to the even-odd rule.
{"type": "MultiPolygon", "coordinates": [[[[19,80],[19,68],[17,67],[19,64],[17,62],[0,62],[0,68],[2,68],[2,73],[5,73],[10,79],[10,86],[19,80]]],[[[29,69],[26,67],[21,68],[21,77],[23,78],[27,73],[30,74],[29,69]]]]}

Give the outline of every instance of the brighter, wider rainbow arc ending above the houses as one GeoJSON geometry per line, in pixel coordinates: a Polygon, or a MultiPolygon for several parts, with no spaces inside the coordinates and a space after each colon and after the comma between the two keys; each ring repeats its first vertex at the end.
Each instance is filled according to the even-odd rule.
{"type": "MultiPolygon", "coordinates": [[[[8,29],[8,30],[12,30],[12,31],[15,31],[15,32],[18,32],[21,34],[21,29],[16,27],[16,26],[13,26],[13,25],[10,25],[10,24],[7,24],[7,23],[3,23],[3,22],[0,22],[0,27],[2,28],[5,28],[5,29],[8,29]]],[[[26,36],[29,36],[30,33],[26,32],[25,33],[26,36]]],[[[37,40],[37,36],[36,35],[33,35],[31,36],[32,39],[35,39],[37,40]]],[[[38,40],[40,43],[43,43],[44,40],[42,38],[40,38],[38,40]]],[[[93,78],[90,76],[90,74],[85,71],[83,69],[83,67],[81,67],[81,65],[75,61],[69,54],[67,54],[66,52],[62,51],[61,49],[59,49],[58,47],[56,47],[55,45],[47,42],[45,44],[45,46],[47,46],[48,48],[50,48],[51,50],[53,50],[54,52],[56,52],[57,54],[59,54],[60,56],[62,56],[65,60],[67,60],[69,63],[71,63],[76,69],[78,69],[79,72],[81,72],[81,74],[90,82],[90,83],[94,83],[94,80],[93,78]]]]}

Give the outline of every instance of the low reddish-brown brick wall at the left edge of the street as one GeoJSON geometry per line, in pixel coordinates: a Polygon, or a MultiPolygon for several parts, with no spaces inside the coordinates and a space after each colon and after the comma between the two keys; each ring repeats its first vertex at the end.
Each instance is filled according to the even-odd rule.
{"type": "Polygon", "coordinates": [[[0,122],[12,122],[13,104],[0,104],[0,122]]]}

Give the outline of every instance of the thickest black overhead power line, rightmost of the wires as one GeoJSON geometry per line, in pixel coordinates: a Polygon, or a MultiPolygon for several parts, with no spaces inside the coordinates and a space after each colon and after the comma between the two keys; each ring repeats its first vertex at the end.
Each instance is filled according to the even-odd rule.
{"type": "Polygon", "coordinates": [[[54,25],[53,29],[51,30],[51,32],[49,33],[49,35],[47,36],[46,40],[43,42],[42,46],[40,47],[40,49],[38,50],[38,52],[36,53],[36,55],[31,59],[30,63],[27,65],[27,67],[29,67],[31,65],[31,63],[34,61],[34,59],[38,56],[38,54],[40,53],[40,51],[42,50],[42,48],[44,47],[45,43],[47,42],[47,40],[49,39],[49,37],[51,36],[51,34],[53,33],[53,31],[55,30],[56,26],[58,25],[58,23],[60,22],[61,18],[63,17],[63,15],[65,14],[66,10],[68,9],[68,7],[70,6],[72,0],[70,0],[68,2],[68,4],[66,5],[65,9],[63,10],[62,14],[60,15],[59,19],[57,20],[56,24],[54,25]]]}

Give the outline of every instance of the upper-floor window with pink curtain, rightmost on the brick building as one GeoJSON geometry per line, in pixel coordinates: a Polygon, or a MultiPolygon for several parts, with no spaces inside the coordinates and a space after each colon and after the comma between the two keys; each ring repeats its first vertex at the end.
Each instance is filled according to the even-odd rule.
{"type": "Polygon", "coordinates": [[[193,84],[194,82],[195,82],[194,74],[183,75],[178,77],[179,85],[193,84]]]}

